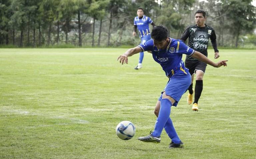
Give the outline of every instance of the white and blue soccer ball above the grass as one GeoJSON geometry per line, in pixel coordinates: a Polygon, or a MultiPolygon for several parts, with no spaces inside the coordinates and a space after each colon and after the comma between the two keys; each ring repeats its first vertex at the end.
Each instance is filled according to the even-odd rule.
{"type": "Polygon", "coordinates": [[[122,121],[116,126],[116,134],[122,140],[130,140],[135,134],[135,126],[130,121],[122,121]]]}

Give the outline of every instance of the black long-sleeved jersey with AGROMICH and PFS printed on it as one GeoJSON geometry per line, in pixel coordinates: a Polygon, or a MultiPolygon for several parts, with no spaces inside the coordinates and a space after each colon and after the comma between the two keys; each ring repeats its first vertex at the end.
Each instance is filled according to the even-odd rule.
{"type": "MultiPolygon", "coordinates": [[[[208,25],[205,25],[205,27],[198,27],[197,25],[189,26],[181,36],[181,40],[185,42],[187,38],[188,46],[198,52],[201,52],[206,57],[208,56],[207,48],[209,39],[211,39],[214,51],[219,52],[219,50],[217,49],[215,31],[212,27],[208,25]]],[[[197,59],[187,55],[186,60],[197,59]]]]}

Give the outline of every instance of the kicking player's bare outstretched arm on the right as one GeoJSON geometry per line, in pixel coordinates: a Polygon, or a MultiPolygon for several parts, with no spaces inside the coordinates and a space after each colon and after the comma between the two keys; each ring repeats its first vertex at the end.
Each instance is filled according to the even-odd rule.
{"type": "Polygon", "coordinates": [[[194,57],[194,58],[198,59],[199,61],[209,64],[213,67],[227,66],[226,62],[228,61],[228,60],[221,60],[218,63],[214,63],[213,61],[211,61],[209,58],[207,58],[205,55],[203,55],[202,53],[200,53],[198,51],[195,51],[191,55],[191,57],[194,57]]]}

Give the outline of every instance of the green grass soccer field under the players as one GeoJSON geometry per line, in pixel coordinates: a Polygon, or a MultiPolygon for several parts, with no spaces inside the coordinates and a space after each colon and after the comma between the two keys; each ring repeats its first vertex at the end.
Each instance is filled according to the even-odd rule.
{"type": "Polygon", "coordinates": [[[256,158],[256,50],[220,50],[228,67],[207,66],[199,111],[187,93],[172,107],[178,149],[165,131],[159,144],[137,140],[168,79],[150,53],[140,70],[139,55],[120,65],[125,50],[0,49],[0,158],[256,158]],[[122,120],[136,126],[131,140],[115,134],[122,120]]]}

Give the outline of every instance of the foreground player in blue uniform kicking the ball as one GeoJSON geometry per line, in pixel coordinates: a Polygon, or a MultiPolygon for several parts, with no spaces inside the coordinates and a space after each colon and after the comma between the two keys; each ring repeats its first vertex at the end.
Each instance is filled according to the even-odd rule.
{"type": "Polygon", "coordinates": [[[191,75],[189,74],[188,69],[184,66],[182,54],[191,55],[214,67],[220,67],[222,65],[226,66],[227,60],[222,60],[218,63],[212,62],[200,52],[194,51],[188,47],[181,40],[168,38],[168,30],[163,26],[154,27],[151,37],[152,40],[147,41],[143,45],[140,44],[137,47],[128,49],[124,54],[117,58],[121,64],[128,64],[128,56],[139,53],[141,50],[152,51],[154,60],[162,66],[165,75],[169,78],[156,105],[160,110],[157,114],[158,118],[155,123],[154,131],[150,132],[150,135],[139,137],[138,139],[144,142],[159,143],[161,141],[160,135],[163,128],[165,128],[165,131],[171,138],[169,148],[181,147],[183,143],[177,135],[169,116],[171,113],[171,106],[177,106],[181,96],[187,91],[191,84],[191,75]]]}

